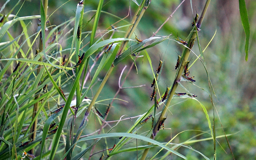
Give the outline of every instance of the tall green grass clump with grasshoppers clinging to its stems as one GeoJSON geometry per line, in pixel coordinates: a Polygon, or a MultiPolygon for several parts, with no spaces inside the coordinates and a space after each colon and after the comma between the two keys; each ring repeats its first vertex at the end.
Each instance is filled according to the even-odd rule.
{"type": "MultiPolygon", "coordinates": [[[[10,2],[7,1],[6,4],[8,3],[10,2]]],[[[104,5],[107,5],[103,0],[97,4],[97,10],[88,10],[88,4],[82,0],[76,4],[67,1],[52,13],[50,3],[45,0],[40,1],[40,15],[17,16],[20,10],[24,10],[22,4],[12,17],[11,13],[19,3],[21,2],[18,1],[7,15],[2,14],[0,19],[0,160],[110,159],[134,152],[136,156],[133,158],[137,159],[146,159],[148,156],[153,159],[159,155],[161,159],[169,155],[187,159],[190,155],[179,152],[180,148],[204,159],[216,158],[216,139],[227,139],[230,134],[216,135],[213,103],[215,92],[206,68],[203,55],[205,50],[201,48],[198,35],[209,0],[201,15],[193,17],[194,26],[185,40],[178,36],[175,39],[170,33],[157,36],[163,25],[151,37],[143,38],[139,34],[138,26],[151,7],[150,0],[142,0],[140,3],[133,1],[127,16],[130,17],[129,22],[127,17],[120,18],[103,11],[104,5]],[[67,21],[55,24],[52,17],[67,4],[75,8],[74,15],[67,21]],[[136,9],[131,7],[133,5],[136,9]],[[103,16],[108,16],[113,21],[104,29],[101,24],[103,16]],[[18,27],[21,32],[12,29],[18,27]],[[160,79],[165,75],[165,63],[169,57],[160,57],[158,67],[154,67],[154,58],[148,51],[166,44],[167,41],[177,42],[183,51],[177,62],[176,57],[172,58],[176,64],[173,70],[177,69],[172,85],[162,89],[160,79]],[[192,50],[194,45],[199,48],[198,55],[197,51],[192,50]],[[188,60],[191,53],[197,56],[193,63],[188,60]],[[147,71],[153,77],[153,105],[148,101],[150,95],[142,94],[144,90],[141,88],[145,85],[135,85],[136,82],[129,79],[131,74],[135,75],[133,66],[137,73],[141,71],[141,59],[149,62],[147,71]],[[187,87],[187,84],[192,85],[198,81],[194,76],[190,77],[191,70],[189,71],[198,59],[207,73],[210,87],[207,94],[213,117],[209,116],[209,109],[187,87]],[[125,63],[131,65],[121,82],[126,72],[126,66],[122,66],[125,63]],[[120,68],[123,69],[117,74],[120,68]],[[118,88],[112,88],[112,82],[117,83],[118,88]],[[124,87],[126,83],[130,86],[124,87]],[[134,98],[134,102],[130,103],[140,103],[144,105],[143,109],[136,107],[131,112],[129,108],[123,107],[127,100],[119,95],[127,90],[130,91],[127,94],[134,98]],[[158,134],[162,134],[164,123],[171,122],[170,107],[176,105],[171,102],[181,99],[197,102],[195,105],[202,109],[206,119],[206,131],[185,129],[177,132],[171,139],[162,138],[164,142],[161,142],[158,134]],[[113,109],[119,109],[119,113],[114,115],[113,109]],[[197,134],[181,138],[182,141],[176,140],[187,131],[197,134]],[[150,138],[148,135],[151,135],[150,138]],[[196,137],[200,138],[195,140],[196,137]],[[213,141],[213,154],[205,155],[188,146],[207,140],[213,141]],[[154,151],[148,154],[152,149],[154,151]],[[163,149],[165,153],[161,152],[163,149]]],[[[1,11],[4,8],[2,6],[1,11]]],[[[67,7],[67,10],[72,10],[71,8],[67,7]]],[[[152,79],[148,78],[145,82],[147,81],[152,79]]]]}

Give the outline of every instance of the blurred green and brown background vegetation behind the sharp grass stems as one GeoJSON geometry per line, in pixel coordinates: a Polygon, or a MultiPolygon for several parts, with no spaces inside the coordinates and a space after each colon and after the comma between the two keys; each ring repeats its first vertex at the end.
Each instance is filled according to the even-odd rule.
{"type": "MultiPolygon", "coordinates": [[[[49,1],[48,15],[51,15],[59,6],[65,3],[65,0],[49,1]]],[[[247,0],[247,9],[251,29],[251,38],[249,44],[249,57],[248,61],[245,61],[245,33],[242,28],[240,14],[239,14],[239,3],[233,0],[217,0],[211,1],[210,6],[207,10],[206,18],[203,21],[200,36],[200,45],[202,49],[206,47],[210,39],[213,37],[215,31],[216,35],[213,41],[210,43],[209,47],[204,52],[207,69],[210,75],[211,82],[213,83],[214,91],[216,93],[217,99],[214,98],[214,104],[218,111],[215,111],[216,120],[216,135],[223,135],[223,130],[221,127],[222,122],[223,129],[226,134],[234,134],[229,136],[229,143],[235,159],[247,160],[256,159],[256,65],[255,65],[255,27],[256,27],[256,1],[247,0]],[[218,118],[219,115],[219,118],[218,118]]],[[[4,1],[0,1],[0,6],[2,6],[4,1]]],[[[75,16],[75,9],[77,1],[69,1],[64,6],[55,11],[55,13],[49,18],[51,25],[59,25],[70,18],[75,16]]],[[[157,31],[160,25],[165,22],[165,20],[173,13],[175,8],[181,3],[179,0],[152,0],[148,9],[146,10],[141,22],[139,23],[136,35],[140,39],[146,39],[152,36],[153,32],[157,31]]],[[[193,9],[197,8],[197,12],[201,13],[205,1],[203,0],[192,0],[193,9]]],[[[15,3],[8,3],[3,12],[8,13],[15,3]]],[[[85,1],[85,11],[96,10],[98,1],[85,1]]],[[[105,1],[102,8],[103,11],[111,13],[113,15],[119,16],[120,18],[126,17],[129,13],[129,6],[131,6],[132,17],[135,10],[137,9],[136,4],[133,1],[124,0],[111,0],[105,1]]],[[[12,14],[16,14],[21,7],[21,4],[17,6],[12,14]]],[[[88,12],[84,15],[83,23],[86,23],[95,12],[88,12]]],[[[29,16],[29,15],[39,15],[40,14],[40,1],[25,1],[23,7],[17,14],[17,16],[29,16]]],[[[195,9],[194,9],[195,14],[195,9]]],[[[162,29],[157,33],[157,35],[169,35],[172,34],[170,38],[177,38],[177,33],[179,37],[185,39],[192,29],[191,23],[193,21],[193,15],[191,10],[190,1],[186,0],[176,13],[169,19],[169,21],[162,27],[162,29]]],[[[126,18],[126,21],[130,22],[131,16],[126,18]]],[[[113,17],[109,14],[102,13],[99,20],[98,30],[101,31],[109,28],[111,24],[114,24],[119,19],[113,17]]],[[[125,22],[119,22],[115,26],[125,25],[125,22]]],[[[86,27],[83,28],[82,32],[91,31],[93,26],[93,21],[91,21],[86,27]]],[[[32,21],[31,33],[35,33],[37,30],[37,24],[32,21]]],[[[72,26],[71,26],[72,27],[72,26]]],[[[13,36],[19,35],[22,28],[19,24],[16,27],[11,28],[13,30],[13,36]]],[[[122,29],[126,31],[125,29],[122,29]]],[[[82,38],[86,34],[82,34],[82,38]]],[[[107,39],[110,35],[107,35],[107,39]]],[[[124,32],[117,31],[114,34],[114,38],[123,37],[124,32]]],[[[133,37],[134,38],[134,37],[133,37]]],[[[88,42],[89,38],[83,41],[83,45],[88,42]]],[[[70,40],[71,41],[71,40],[70,40]]],[[[63,41],[62,47],[65,48],[69,46],[69,41],[63,41]]],[[[86,50],[88,45],[84,48],[86,50]]],[[[160,93],[164,93],[166,86],[170,86],[173,83],[174,76],[176,74],[175,65],[177,61],[177,53],[181,55],[182,46],[172,40],[166,40],[159,45],[148,49],[147,52],[152,60],[154,70],[157,69],[159,64],[159,59],[161,57],[163,64],[163,70],[160,75],[158,82],[160,93]],[[177,52],[177,53],[176,53],[177,52]]],[[[199,55],[197,41],[193,47],[193,51],[199,55]]],[[[111,107],[110,116],[107,118],[108,121],[118,120],[122,115],[126,114],[130,117],[140,115],[145,113],[152,105],[153,101],[150,101],[150,95],[152,93],[151,83],[153,79],[153,73],[151,71],[148,60],[145,53],[142,52],[140,55],[144,57],[138,58],[136,61],[138,67],[138,74],[136,68],[133,67],[131,73],[129,74],[123,87],[139,86],[144,85],[140,88],[132,89],[122,89],[117,96],[120,99],[124,99],[129,103],[123,101],[115,101],[113,107],[111,107]]],[[[95,55],[93,55],[95,56],[95,55]]],[[[196,59],[196,56],[189,58],[192,61],[196,59]]],[[[104,87],[102,93],[98,100],[113,98],[116,91],[118,90],[118,79],[120,73],[127,65],[127,69],[124,72],[122,79],[125,77],[128,68],[132,64],[130,58],[127,58],[125,63],[119,64],[115,67],[114,72],[107,81],[107,85],[104,87]]],[[[90,64],[93,62],[91,61],[90,64]]],[[[96,68],[94,69],[94,71],[96,68]]],[[[107,69],[106,69],[107,71],[107,69]]],[[[101,74],[100,79],[103,79],[106,71],[101,74]]],[[[207,80],[206,71],[200,61],[197,61],[190,69],[190,74],[195,76],[195,85],[204,88],[209,92],[209,85],[207,80]]],[[[89,84],[89,82],[88,82],[89,84]]],[[[213,107],[210,103],[210,98],[208,94],[202,89],[189,82],[182,83],[184,87],[189,89],[193,94],[196,94],[197,99],[205,105],[210,115],[210,119],[213,119],[213,107]]],[[[98,88],[99,82],[94,86],[95,90],[98,88]]],[[[68,88],[69,86],[64,86],[68,88]]],[[[66,89],[67,90],[67,89],[66,89]]],[[[178,88],[177,91],[184,91],[182,88],[178,88]]],[[[95,93],[95,91],[94,91],[95,93]]],[[[92,95],[87,95],[92,97],[92,95]]],[[[111,100],[105,101],[105,104],[109,104],[111,100]]],[[[106,110],[106,105],[96,105],[96,107],[104,113],[106,110]]],[[[180,133],[184,130],[202,130],[208,131],[208,124],[203,113],[203,110],[199,103],[191,99],[174,99],[171,102],[174,105],[170,108],[171,113],[168,113],[167,120],[165,121],[165,130],[160,130],[155,140],[160,142],[168,142],[171,137],[180,133]],[[184,101],[185,100],[185,101],[184,101]],[[184,101],[184,102],[183,102],[184,101]],[[179,103],[181,102],[181,103],[179,103]],[[176,104],[179,103],[179,104],[176,104]],[[175,105],[174,105],[175,104],[175,105]]],[[[162,109],[162,106],[158,111],[162,109]]],[[[89,121],[95,121],[93,114],[90,115],[89,121]]],[[[127,116],[125,118],[128,118],[127,116]]],[[[79,121],[79,120],[77,120],[79,121]]],[[[135,121],[135,119],[133,119],[135,121]]],[[[110,123],[113,126],[115,123],[110,123]]],[[[117,127],[113,129],[115,132],[126,132],[129,126],[132,125],[130,120],[121,121],[117,127]]],[[[89,123],[83,134],[90,134],[99,128],[97,121],[89,123]]],[[[78,127],[78,126],[76,126],[78,127]]],[[[105,128],[105,132],[109,127],[105,128]]],[[[151,123],[147,123],[142,129],[138,131],[138,134],[146,135],[151,129],[151,123]],[[146,133],[144,133],[146,132],[146,133]]],[[[200,134],[200,131],[185,131],[174,139],[174,143],[181,143],[187,139],[200,134]]],[[[151,132],[148,134],[150,136],[151,132]]],[[[209,135],[203,134],[196,137],[195,139],[207,138],[209,135]]],[[[107,139],[110,145],[118,142],[118,138],[107,139]]],[[[230,153],[229,147],[226,143],[225,138],[217,139],[217,159],[229,160],[232,159],[232,154],[230,153]]],[[[104,147],[104,140],[102,139],[102,145],[97,145],[94,150],[99,151],[104,147]]],[[[128,146],[136,146],[136,141],[128,144],[128,146]]],[[[88,145],[91,144],[88,142],[88,145]]],[[[138,141],[138,145],[146,144],[145,142],[138,141]]],[[[87,145],[87,144],[80,144],[87,145]]],[[[195,150],[198,150],[205,154],[207,157],[213,159],[213,141],[203,141],[200,143],[190,144],[195,150]]],[[[109,146],[112,147],[112,146],[109,146]]],[[[148,156],[152,157],[159,148],[151,149],[148,156]]],[[[198,153],[192,152],[191,150],[180,148],[178,152],[186,155],[189,159],[197,160],[203,159],[198,153]]],[[[142,152],[139,152],[139,154],[142,152]]],[[[161,152],[160,154],[164,154],[161,152]]],[[[89,153],[88,153],[89,154],[89,153]]],[[[86,154],[86,156],[88,156],[86,154]]],[[[99,159],[101,153],[98,153],[92,157],[92,159],[99,159]]],[[[85,156],[85,157],[86,157],[85,156]]],[[[113,156],[112,159],[136,159],[136,152],[121,153],[113,156]]],[[[57,157],[55,157],[57,158],[57,157]]],[[[170,159],[179,159],[176,156],[171,156],[170,159]]]]}

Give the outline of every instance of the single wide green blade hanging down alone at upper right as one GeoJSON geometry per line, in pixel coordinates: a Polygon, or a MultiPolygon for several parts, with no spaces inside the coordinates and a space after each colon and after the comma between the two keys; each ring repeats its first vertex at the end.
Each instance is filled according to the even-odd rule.
{"type": "Polygon", "coordinates": [[[243,25],[243,30],[245,30],[245,35],[246,35],[245,61],[247,61],[248,60],[248,50],[249,50],[249,39],[250,39],[250,24],[249,24],[245,0],[239,0],[239,10],[240,10],[240,16],[241,16],[241,21],[242,21],[242,25],[243,25]]]}

